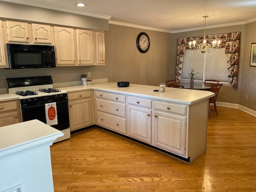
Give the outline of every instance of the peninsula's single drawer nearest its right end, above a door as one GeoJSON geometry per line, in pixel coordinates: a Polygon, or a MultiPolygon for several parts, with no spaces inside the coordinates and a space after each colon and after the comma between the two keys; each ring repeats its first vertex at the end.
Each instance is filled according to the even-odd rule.
{"type": "Polygon", "coordinates": [[[181,115],[186,115],[186,106],[164,103],[164,102],[155,102],[156,110],[163,110],[167,112],[177,113],[181,115]]]}

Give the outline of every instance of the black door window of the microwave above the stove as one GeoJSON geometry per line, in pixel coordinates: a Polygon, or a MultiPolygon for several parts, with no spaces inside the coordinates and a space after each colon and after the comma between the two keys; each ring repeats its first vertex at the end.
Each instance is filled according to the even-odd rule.
{"type": "Polygon", "coordinates": [[[13,52],[13,68],[43,68],[44,56],[42,52],[13,52]]]}

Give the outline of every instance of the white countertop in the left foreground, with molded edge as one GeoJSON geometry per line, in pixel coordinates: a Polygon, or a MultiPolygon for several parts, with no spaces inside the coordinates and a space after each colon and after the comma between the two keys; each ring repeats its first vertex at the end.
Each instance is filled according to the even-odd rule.
{"type": "Polygon", "coordinates": [[[0,127],[0,157],[36,144],[52,142],[63,133],[39,120],[0,127]]]}

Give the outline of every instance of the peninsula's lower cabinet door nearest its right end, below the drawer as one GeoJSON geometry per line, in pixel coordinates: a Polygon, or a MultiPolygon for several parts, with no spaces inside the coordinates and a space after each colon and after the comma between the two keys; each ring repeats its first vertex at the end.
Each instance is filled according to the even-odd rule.
{"type": "Polygon", "coordinates": [[[155,146],[184,156],[186,117],[156,111],[153,119],[155,146]]]}

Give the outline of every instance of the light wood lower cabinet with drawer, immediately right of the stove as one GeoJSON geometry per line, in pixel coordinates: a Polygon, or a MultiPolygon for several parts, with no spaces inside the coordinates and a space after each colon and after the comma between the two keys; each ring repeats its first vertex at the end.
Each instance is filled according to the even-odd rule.
{"type": "Polygon", "coordinates": [[[68,93],[71,131],[93,124],[91,94],[91,90],[68,93]]]}

